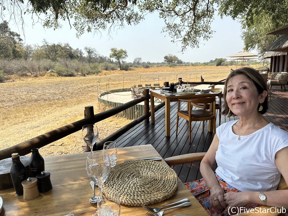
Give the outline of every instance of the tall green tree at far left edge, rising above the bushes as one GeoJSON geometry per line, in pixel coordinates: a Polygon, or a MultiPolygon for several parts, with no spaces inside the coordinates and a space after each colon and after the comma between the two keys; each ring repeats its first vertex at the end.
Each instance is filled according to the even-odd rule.
{"type": "Polygon", "coordinates": [[[0,23],[0,58],[20,58],[21,49],[20,35],[10,30],[7,21],[0,23]]]}

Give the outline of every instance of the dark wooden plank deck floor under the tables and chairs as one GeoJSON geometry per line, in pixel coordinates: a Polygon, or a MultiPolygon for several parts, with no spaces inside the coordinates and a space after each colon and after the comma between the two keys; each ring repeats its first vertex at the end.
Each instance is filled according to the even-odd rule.
{"type": "MultiPolygon", "coordinates": [[[[181,106],[182,109],[185,109],[186,104],[183,103],[181,106]]],[[[219,126],[218,111],[216,126],[219,126]]],[[[165,107],[162,107],[155,113],[155,124],[151,124],[151,121],[138,124],[115,140],[117,146],[128,147],[152,144],[163,158],[187,153],[206,152],[212,142],[213,133],[207,131],[206,125],[204,133],[202,133],[202,122],[192,122],[192,144],[189,144],[188,123],[182,118],[179,118],[178,136],[176,136],[176,112],[177,102],[171,103],[170,137],[165,136],[165,107]]],[[[272,86],[269,110],[264,117],[281,129],[288,131],[288,91],[281,90],[280,86],[272,86]]],[[[238,119],[238,117],[221,116],[221,123],[235,119],[238,119]]],[[[202,178],[199,164],[199,162],[186,163],[174,166],[173,169],[182,182],[188,182],[202,178]]]]}

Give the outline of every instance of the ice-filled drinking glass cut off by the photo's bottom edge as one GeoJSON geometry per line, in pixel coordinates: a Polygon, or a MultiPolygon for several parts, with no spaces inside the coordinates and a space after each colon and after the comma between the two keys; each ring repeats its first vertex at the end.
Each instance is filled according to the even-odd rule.
{"type": "Polygon", "coordinates": [[[119,216],[120,199],[117,190],[105,188],[98,193],[98,216],[119,216]]]}

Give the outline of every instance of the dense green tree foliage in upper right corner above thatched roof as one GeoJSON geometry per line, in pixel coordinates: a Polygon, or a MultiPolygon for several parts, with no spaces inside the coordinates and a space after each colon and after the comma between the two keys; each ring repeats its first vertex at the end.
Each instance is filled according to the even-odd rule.
{"type": "Polygon", "coordinates": [[[265,49],[279,37],[266,34],[288,23],[286,0],[216,0],[216,2],[221,16],[240,20],[244,49],[257,49],[258,55],[263,55],[265,49]]]}

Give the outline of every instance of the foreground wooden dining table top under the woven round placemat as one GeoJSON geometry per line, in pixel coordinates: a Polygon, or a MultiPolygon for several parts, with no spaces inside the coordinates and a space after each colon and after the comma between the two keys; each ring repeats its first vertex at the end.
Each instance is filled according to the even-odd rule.
{"type": "MultiPolygon", "coordinates": [[[[51,173],[51,183],[53,188],[32,200],[23,200],[23,196],[15,196],[14,188],[0,190],[3,199],[3,215],[50,215],[63,216],[70,212],[75,216],[91,216],[97,208],[97,204],[92,204],[89,199],[92,196],[91,179],[85,170],[86,153],[76,153],[61,156],[45,157],[45,170],[51,173]]],[[[118,148],[117,164],[124,160],[161,157],[150,144],[118,148]]],[[[20,158],[21,159],[21,158],[20,158]]],[[[159,163],[165,163],[157,161],[159,163]]],[[[167,165],[168,166],[168,165],[167,165]]],[[[157,182],[155,182],[157,184],[157,182]]],[[[98,188],[95,187],[95,193],[98,188]]],[[[189,198],[191,206],[176,208],[165,211],[165,216],[189,215],[207,216],[205,209],[199,204],[194,196],[187,190],[186,186],[178,178],[178,188],[174,195],[160,203],[150,204],[149,207],[159,207],[166,204],[189,198]]],[[[127,206],[121,204],[121,216],[138,216],[147,213],[141,206],[127,206]]]]}

